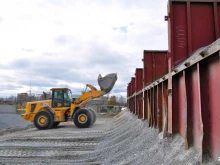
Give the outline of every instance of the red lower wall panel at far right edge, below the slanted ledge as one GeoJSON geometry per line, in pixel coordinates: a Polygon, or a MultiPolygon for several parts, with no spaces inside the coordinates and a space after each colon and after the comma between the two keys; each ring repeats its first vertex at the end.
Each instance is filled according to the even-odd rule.
{"type": "Polygon", "coordinates": [[[217,160],[220,155],[220,57],[219,53],[200,63],[203,149],[217,160]]]}

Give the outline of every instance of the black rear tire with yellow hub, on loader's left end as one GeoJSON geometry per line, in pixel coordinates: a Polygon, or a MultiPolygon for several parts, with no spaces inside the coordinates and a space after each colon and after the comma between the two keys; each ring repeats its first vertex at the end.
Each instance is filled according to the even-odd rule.
{"type": "Polygon", "coordinates": [[[34,117],[34,125],[38,129],[50,129],[54,124],[54,116],[51,112],[40,111],[34,117]]]}

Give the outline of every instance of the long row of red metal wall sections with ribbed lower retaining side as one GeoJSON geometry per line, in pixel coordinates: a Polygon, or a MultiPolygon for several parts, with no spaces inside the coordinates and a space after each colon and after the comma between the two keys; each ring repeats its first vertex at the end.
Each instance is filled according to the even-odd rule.
{"type": "Polygon", "coordinates": [[[186,149],[194,146],[218,160],[220,44],[204,50],[207,58],[203,50],[189,57],[219,38],[220,1],[169,0],[167,20],[169,51],[144,51],[143,91],[137,69],[138,88],[133,97],[133,90],[128,94],[129,108],[163,137],[179,133],[186,149]]]}

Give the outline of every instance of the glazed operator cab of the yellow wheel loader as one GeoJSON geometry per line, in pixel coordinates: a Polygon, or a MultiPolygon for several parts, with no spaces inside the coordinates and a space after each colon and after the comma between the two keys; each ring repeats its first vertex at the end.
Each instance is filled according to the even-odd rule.
{"type": "Polygon", "coordinates": [[[72,92],[68,88],[52,88],[52,107],[70,107],[72,92]]]}

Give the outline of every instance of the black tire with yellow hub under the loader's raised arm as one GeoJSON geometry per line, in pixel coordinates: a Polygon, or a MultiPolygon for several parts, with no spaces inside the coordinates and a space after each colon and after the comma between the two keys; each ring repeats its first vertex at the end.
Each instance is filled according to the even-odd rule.
{"type": "Polygon", "coordinates": [[[92,121],[92,112],[88,109],[79,109],[73,115],[73,122],[79,128],[90,127],[92,125],[92,121]]]}

